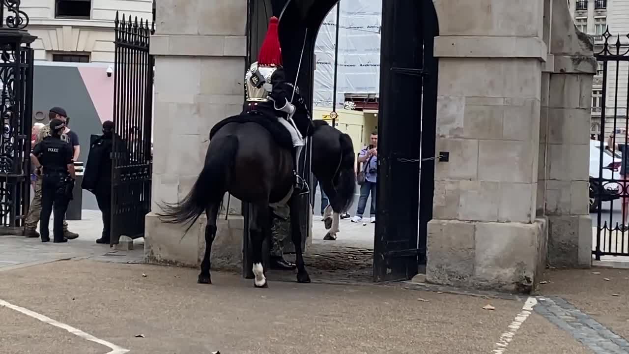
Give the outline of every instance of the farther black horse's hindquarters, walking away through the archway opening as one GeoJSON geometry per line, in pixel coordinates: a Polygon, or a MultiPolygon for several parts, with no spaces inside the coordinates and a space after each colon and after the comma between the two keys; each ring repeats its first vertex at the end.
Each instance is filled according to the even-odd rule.
{"type": "Polygon", "coordinates": [[[335,240],[339,231],[339,213],[352,206],[356,186],[352,138],[325,120],[314,120],[313,125],[311,168],[321,190],[330,200],[323,214],[325,228],[330,230],[324,239],[335,240]]]}

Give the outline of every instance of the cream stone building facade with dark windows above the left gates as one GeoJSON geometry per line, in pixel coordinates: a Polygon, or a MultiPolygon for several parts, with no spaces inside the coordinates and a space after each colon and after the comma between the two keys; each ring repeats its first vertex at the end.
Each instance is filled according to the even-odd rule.
{"type": "Polygon", "coordinates": [[[35,60],[55,62],[112,63],[116,11],[153,18],[153,0],[31,0],[21,9],[37,36],[35,60]]]}

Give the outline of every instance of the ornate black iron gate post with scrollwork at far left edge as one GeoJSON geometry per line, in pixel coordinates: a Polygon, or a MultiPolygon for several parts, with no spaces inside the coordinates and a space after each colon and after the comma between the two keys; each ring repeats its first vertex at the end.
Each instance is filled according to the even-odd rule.
{"type": "Polygon", "coordinates": [[[14,234],[30,203],[33,49],[20,1],[0,3],[0,226],[14,234]]]}

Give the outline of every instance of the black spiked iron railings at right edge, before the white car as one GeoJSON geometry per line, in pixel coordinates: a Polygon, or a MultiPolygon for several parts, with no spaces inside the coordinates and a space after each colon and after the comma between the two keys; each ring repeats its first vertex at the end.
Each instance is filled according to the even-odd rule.
{"type": "MultiPolygon", "coordinates": [[[[629,84],[629,46],[626,37],[603,35],[596,54],[603,66],[601,122],[598,137],[590,140],[590,211],[596,210],[596,260],[601,256],[629,256],[629,100],[619,87],[629,84]]],[[[595,119],[595,118],[593,118],[595,119]]]]}

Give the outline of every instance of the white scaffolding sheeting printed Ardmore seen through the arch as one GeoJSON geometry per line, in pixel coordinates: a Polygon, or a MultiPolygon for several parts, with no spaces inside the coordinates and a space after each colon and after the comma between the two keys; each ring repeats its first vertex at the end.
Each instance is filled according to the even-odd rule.
{"type": "MultiPolygon", "coordinates": [[[[378,94],[382,0],[340,1],[338,33],[337,109],[346,93],[378,94]]],[[[331,9],[318,33],[313,104],[332,108],[337,7],[331,9]]]]}

